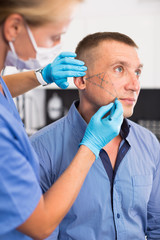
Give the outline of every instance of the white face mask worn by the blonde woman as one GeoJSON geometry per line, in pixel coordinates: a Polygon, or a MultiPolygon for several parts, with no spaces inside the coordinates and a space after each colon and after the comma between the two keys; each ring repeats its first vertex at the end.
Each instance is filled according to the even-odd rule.
{"type": "Polygon", "coordinates": [[[8,51],[6,60],[5,60],[5,66],[14,66],[18,70],[23,69],[38,69],[41,67],[46,66],[48,63],[52,62],[55,57],[60,53],[61,51],[61,45],[58,44],[52,48],[43,48],[38,47],[37,43],[31,33],[31,30],[27,26],[27,32],[30,37],[30,40],[32,42],[32,45],[36,51],[36,58],[30,58],[28,60],[20,59],[16,52],[15,48],[13,46],[12,42],[9,42],[9,46],[11,48],[11,51],[8,51]]]}

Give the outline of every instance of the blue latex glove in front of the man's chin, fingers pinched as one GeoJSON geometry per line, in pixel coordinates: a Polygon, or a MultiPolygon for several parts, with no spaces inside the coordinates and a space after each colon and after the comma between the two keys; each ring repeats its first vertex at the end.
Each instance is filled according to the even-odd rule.
{"type": "Polygon", "coordinates": [[[99,151],[119,134],[122,121],[123,108],[118,100],[101,107],[92,116],[80,145],[87,146],[97,159],[99,151]],[[103,118],[110,110],[112,117],[108,115],[103,118]]]}

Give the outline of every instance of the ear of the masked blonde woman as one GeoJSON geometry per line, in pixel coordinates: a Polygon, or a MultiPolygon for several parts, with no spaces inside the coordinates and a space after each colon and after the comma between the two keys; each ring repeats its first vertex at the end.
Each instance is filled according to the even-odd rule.
{"type": "Polygon", "coordinates": [[[15,41],[17,35],[24,26],[23,17],[19,14],[11,14],[4,22],[4,38],[7,42],[15,41]]]}

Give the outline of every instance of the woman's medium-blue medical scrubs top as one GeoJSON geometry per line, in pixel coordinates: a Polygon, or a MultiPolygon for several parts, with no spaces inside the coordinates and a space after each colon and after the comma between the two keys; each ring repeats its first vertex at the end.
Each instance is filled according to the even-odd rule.
{"type": "Polygon", "coordinates": [[[12,96],[0,77],[0,239],[31,239],[16,228],[36,208],[42,191],[39,165],[12,96]]]}

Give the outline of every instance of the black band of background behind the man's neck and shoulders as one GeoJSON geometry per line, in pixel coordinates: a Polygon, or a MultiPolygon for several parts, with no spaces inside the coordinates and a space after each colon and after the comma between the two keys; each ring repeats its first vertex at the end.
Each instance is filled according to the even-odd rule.
{"type": "MultiPolygon", "coordinates": [[[[46,90],[46,125],[63,117],[76,99],[76,89],[46,90]]],[[[160,140],[160,90],[142,89],[130,119],[151,130],[160,140]]]]}

